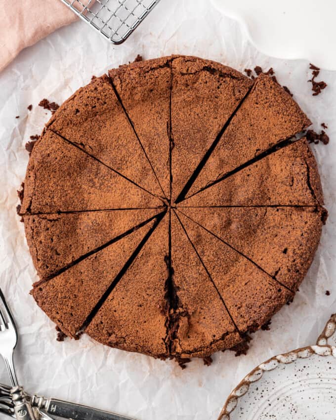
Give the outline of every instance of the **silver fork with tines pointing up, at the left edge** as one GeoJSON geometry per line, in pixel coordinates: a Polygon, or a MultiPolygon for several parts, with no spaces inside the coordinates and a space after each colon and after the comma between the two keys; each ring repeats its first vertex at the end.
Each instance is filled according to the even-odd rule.
{"type": "Polygon", "coordinates": [[[0,289],[0,355],[7,367],[10,382],[12,384],[10,394],[12,397],[11,403],[13,404],[13,411],[17,419],[35,420],[32,406],[26,400],[26,395],[22,387],[19,386],[19,382],[16,378],[13,363],[13,353],[16,343],[17,331],[15,322],[0,289]]]}

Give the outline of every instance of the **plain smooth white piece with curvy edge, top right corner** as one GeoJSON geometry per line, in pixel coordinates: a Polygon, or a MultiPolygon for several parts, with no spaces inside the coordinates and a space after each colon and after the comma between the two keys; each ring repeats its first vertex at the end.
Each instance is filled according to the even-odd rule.
{"type": "Polygon", "coordinates": [[[335,0],[211,0],[264,54],[336,70],[335,0]]]}

